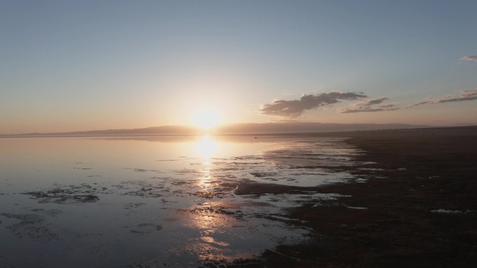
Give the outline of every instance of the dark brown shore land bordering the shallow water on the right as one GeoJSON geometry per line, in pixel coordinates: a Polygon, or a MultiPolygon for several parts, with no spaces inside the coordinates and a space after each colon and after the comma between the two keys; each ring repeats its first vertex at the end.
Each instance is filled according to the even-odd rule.
{"type": "Polygon", "coordinates": [[[343,196],[289,210],[307,242],[236,267],[475,267],[477,127],[307,135],[347,137],[374,164],[335,167],[363,183],[320,187],[343,196]]]}

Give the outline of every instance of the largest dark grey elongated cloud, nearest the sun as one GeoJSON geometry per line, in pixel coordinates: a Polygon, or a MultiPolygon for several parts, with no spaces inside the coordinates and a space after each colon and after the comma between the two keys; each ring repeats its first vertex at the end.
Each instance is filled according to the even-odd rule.
{"type": "Polygon", "coordinates": [[[341,93],[331,91],[319,95],[304,94],[300,97],[300,100],[275,100],[271,104],[264,104],[259,112],[268,116],[296,118],[306,110],[332,105],[340,102],[340,100],[359,100],[365,97],[368,96],[362,92],[341,93]]]}

